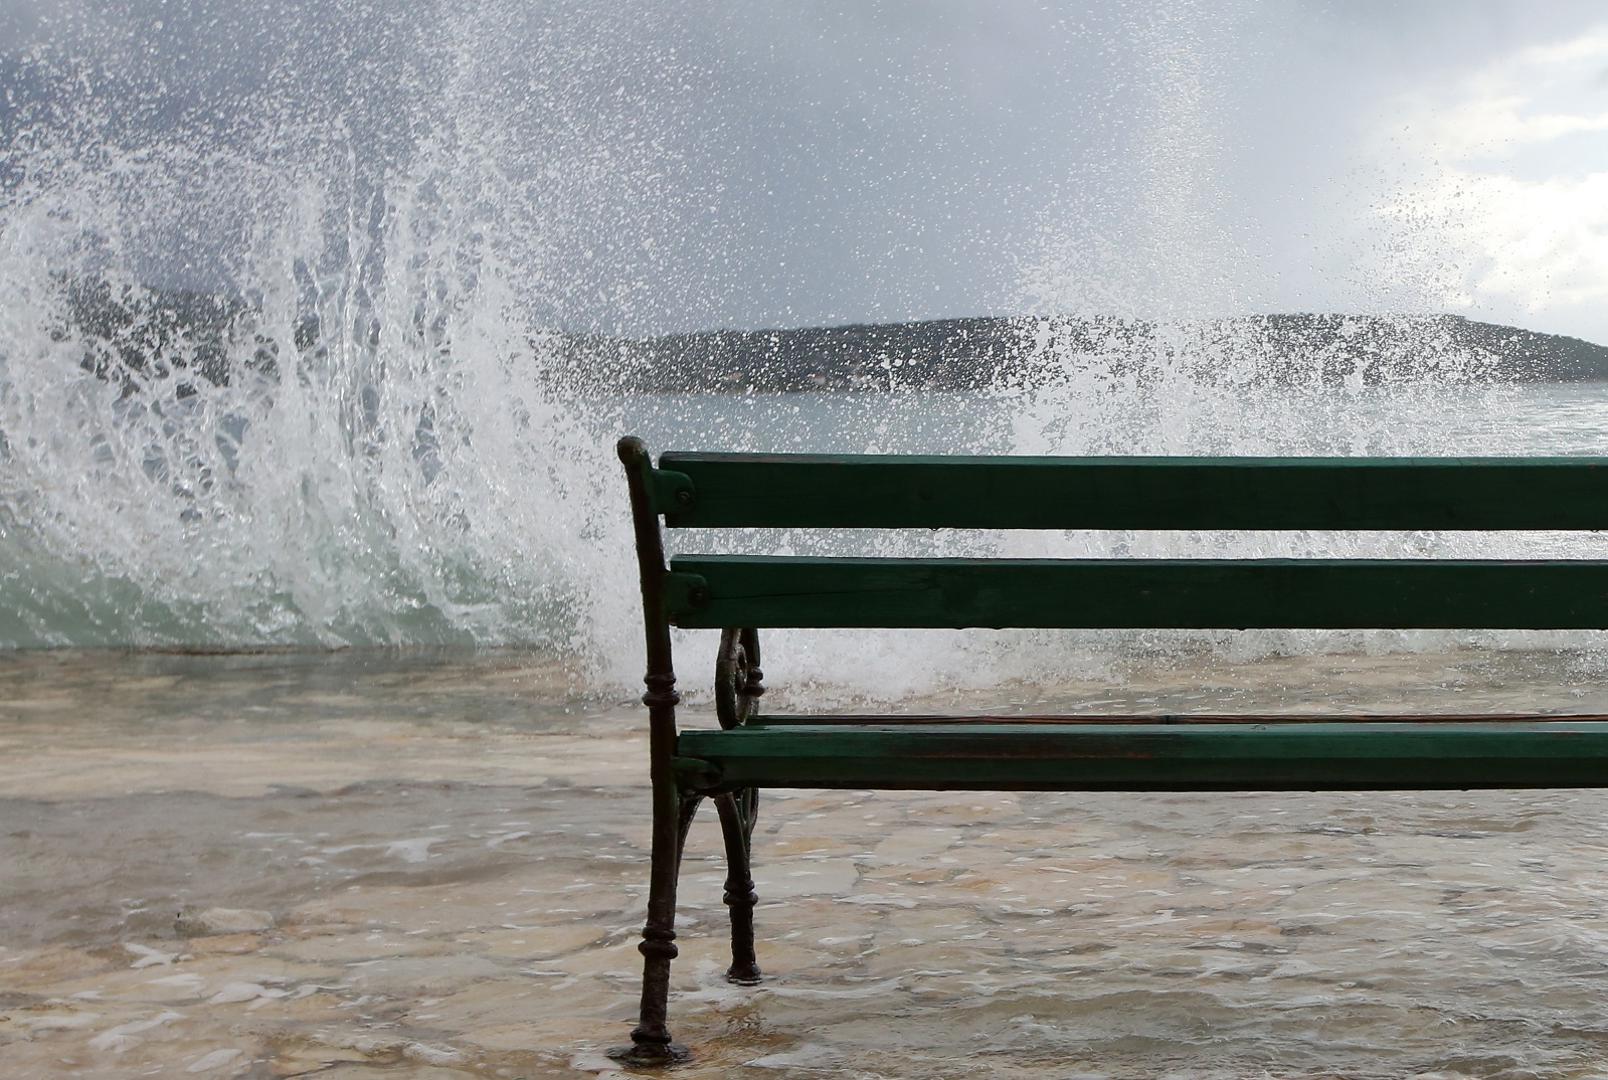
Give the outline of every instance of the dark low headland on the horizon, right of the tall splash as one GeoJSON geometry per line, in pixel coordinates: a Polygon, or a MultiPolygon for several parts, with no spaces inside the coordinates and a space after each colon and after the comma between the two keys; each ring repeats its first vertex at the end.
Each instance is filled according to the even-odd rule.
{"type": "Polygon", "coordinates": [[[1608,347],[1460,315],[1251,315],[1151,323],[982,317],[664,338],[568,336],[577,371],[646,392],[970,391],[1077,368],[1265,386],[1608,381],[1608,347]]]}

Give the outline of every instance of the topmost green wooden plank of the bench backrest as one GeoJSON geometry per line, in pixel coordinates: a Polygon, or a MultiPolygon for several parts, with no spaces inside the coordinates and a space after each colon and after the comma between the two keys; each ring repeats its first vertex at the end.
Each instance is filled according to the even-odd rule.
{"type": "Polygon", "coordinates": [[[1608,458],[666,453],[659,468],[677,474],[658,506],[672,527],[1608,527],[1608,458]]]}

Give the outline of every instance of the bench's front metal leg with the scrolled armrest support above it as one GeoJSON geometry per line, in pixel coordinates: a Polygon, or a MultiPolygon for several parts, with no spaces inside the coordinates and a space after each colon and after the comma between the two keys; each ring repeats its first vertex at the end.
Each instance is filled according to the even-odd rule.
{"type": "MultiPolygon", "coordinates": [[[[732,730],[748,723],[764,693],[759,632],[751,627],[722,630],[714,662],[714,707],[720,726],[732,730]]],[[[759,982],[759,961],[754,956],[754,905],[759,897],[754,894],[751,869],[759,791],[741,788],[714,802],[720,812],[720,832],[725,836],[727,876],[722,898],[732,911],[732,968],[725,977],[746,987],[759,982]]]]}

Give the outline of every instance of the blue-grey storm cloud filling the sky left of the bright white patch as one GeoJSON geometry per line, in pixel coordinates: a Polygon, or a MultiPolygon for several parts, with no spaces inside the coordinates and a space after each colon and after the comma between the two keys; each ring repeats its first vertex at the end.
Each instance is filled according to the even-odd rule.
{"type": "MultiPolygon", "coordinates": [[[[1362,153],[1393,101],[1598,11],[11,2],[0,119],[280,154],[288,170],[349,140],[371,191],[421,141],[457,146],[505,185],[476,196],[495,202],[490,227],[531,233],[547,281],[532,304],[572,328],[1018,310],[1032,265],[1068,248],[1105,251],[1073,265],[1121,278],[1126,302],[1216,289],[1225,309],[1389,304],[1410,289],[1359,267],[1401,239],[1367,231],[1393,162],[1362,153]]],[[[251,206],[230,199],[219,214],[238,227],[251,206]]],[[[201,235],[178,248],[177,275],[227,262],[201,235]]]]}

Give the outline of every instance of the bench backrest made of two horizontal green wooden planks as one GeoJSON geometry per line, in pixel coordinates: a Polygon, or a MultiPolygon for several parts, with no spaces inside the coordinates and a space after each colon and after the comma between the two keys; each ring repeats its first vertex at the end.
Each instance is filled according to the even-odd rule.
{"type": "MultiPolygon", "coordinates": [[[[679,527],[1595,530],[1608,458],[666,453],[679,527]]],[[[677,556],[682,627],[1608,628],[1584,559],[677,556]]]]}

